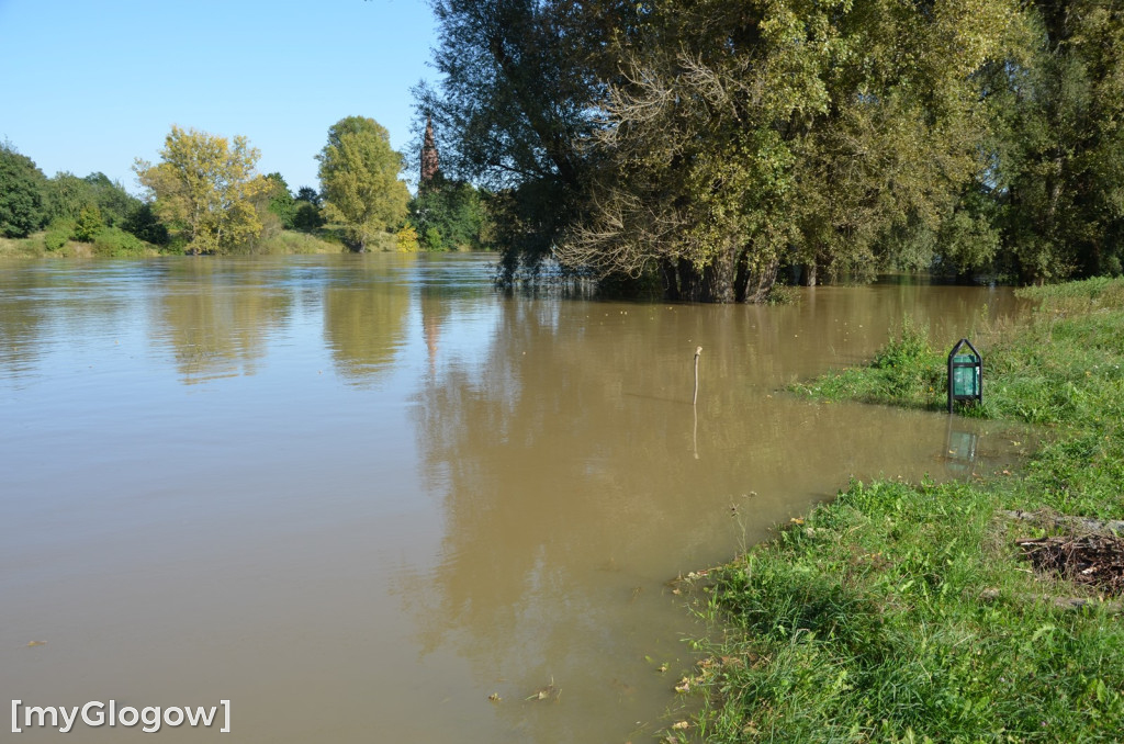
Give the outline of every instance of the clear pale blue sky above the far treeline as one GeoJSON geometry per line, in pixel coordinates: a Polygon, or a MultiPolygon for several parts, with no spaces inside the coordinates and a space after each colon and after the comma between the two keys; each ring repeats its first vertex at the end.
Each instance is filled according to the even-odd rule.
{"type": "Polygon", "coordinates": [[[426,0],[0,0],[0,142],[139,193],[134,160],[157,162],[175,124],[244,135],[261,173],[318,188],[346,116],[417,145],[410,89],[435,79],[435,44],[426,0]]]}

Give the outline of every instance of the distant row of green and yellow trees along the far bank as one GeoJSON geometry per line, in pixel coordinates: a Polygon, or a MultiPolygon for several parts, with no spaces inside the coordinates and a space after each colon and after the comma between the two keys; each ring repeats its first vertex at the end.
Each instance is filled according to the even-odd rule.
{"type": "MultiPolygon", "coordinates": [[[[137,161],[144,199],[102,173],[46,178],[9,143],[0,144],[0,237],[43,230],[39,251],[71,242],[96,255],[224,254],[307,249],[447,251],[483,245],[481,194],[430,178],[417,197],[399,179],[405,164],[373,119],[347,117],[317,155],[320,188],[296,193],[280,173],[255,171],[260,152],[233,139],[173,126],[158,163],[137,161]],[[283,238],[285,230],[318,239],[283,238]],[[274,239],[277,238],[277,239],[274,239]]],[[[37,243],[37,241],[35,241],[37,243]]]]}

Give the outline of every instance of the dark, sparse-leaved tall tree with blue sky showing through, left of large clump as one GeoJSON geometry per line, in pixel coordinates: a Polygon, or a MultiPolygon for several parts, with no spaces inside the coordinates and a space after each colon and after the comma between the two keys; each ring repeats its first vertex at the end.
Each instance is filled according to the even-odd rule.
{"type": "Polygon", "coordinates": [[[491,192],[502,278],[550,256],[578,216],[618,55],[647,12],[625,0],[432,0],[439,88],[419,87],[442,170],[491,192]]]}

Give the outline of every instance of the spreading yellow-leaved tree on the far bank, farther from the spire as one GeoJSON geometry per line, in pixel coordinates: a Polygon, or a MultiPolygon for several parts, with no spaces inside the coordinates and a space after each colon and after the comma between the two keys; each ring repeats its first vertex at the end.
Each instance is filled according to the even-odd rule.
{"type": "Polygon", "coordinates": [[[253,200],[269,183],[254,172],[260,153],[245,137],[232,145],[173,125],[160,154],[158,165],[138,158],[133,170],[155,198],[155,214],[189,253],[227,251],[261,232],[253,200]]]}

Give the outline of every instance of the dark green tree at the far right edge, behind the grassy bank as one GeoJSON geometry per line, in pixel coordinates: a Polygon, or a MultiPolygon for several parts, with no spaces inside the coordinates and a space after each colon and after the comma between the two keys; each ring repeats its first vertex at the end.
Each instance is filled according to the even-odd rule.
{"type": "Polygon", "coordinates": [[[1005,264],[1024,282],[1124,270],[1124,2],[1026,3],[981,78],[1005,264]]]}

